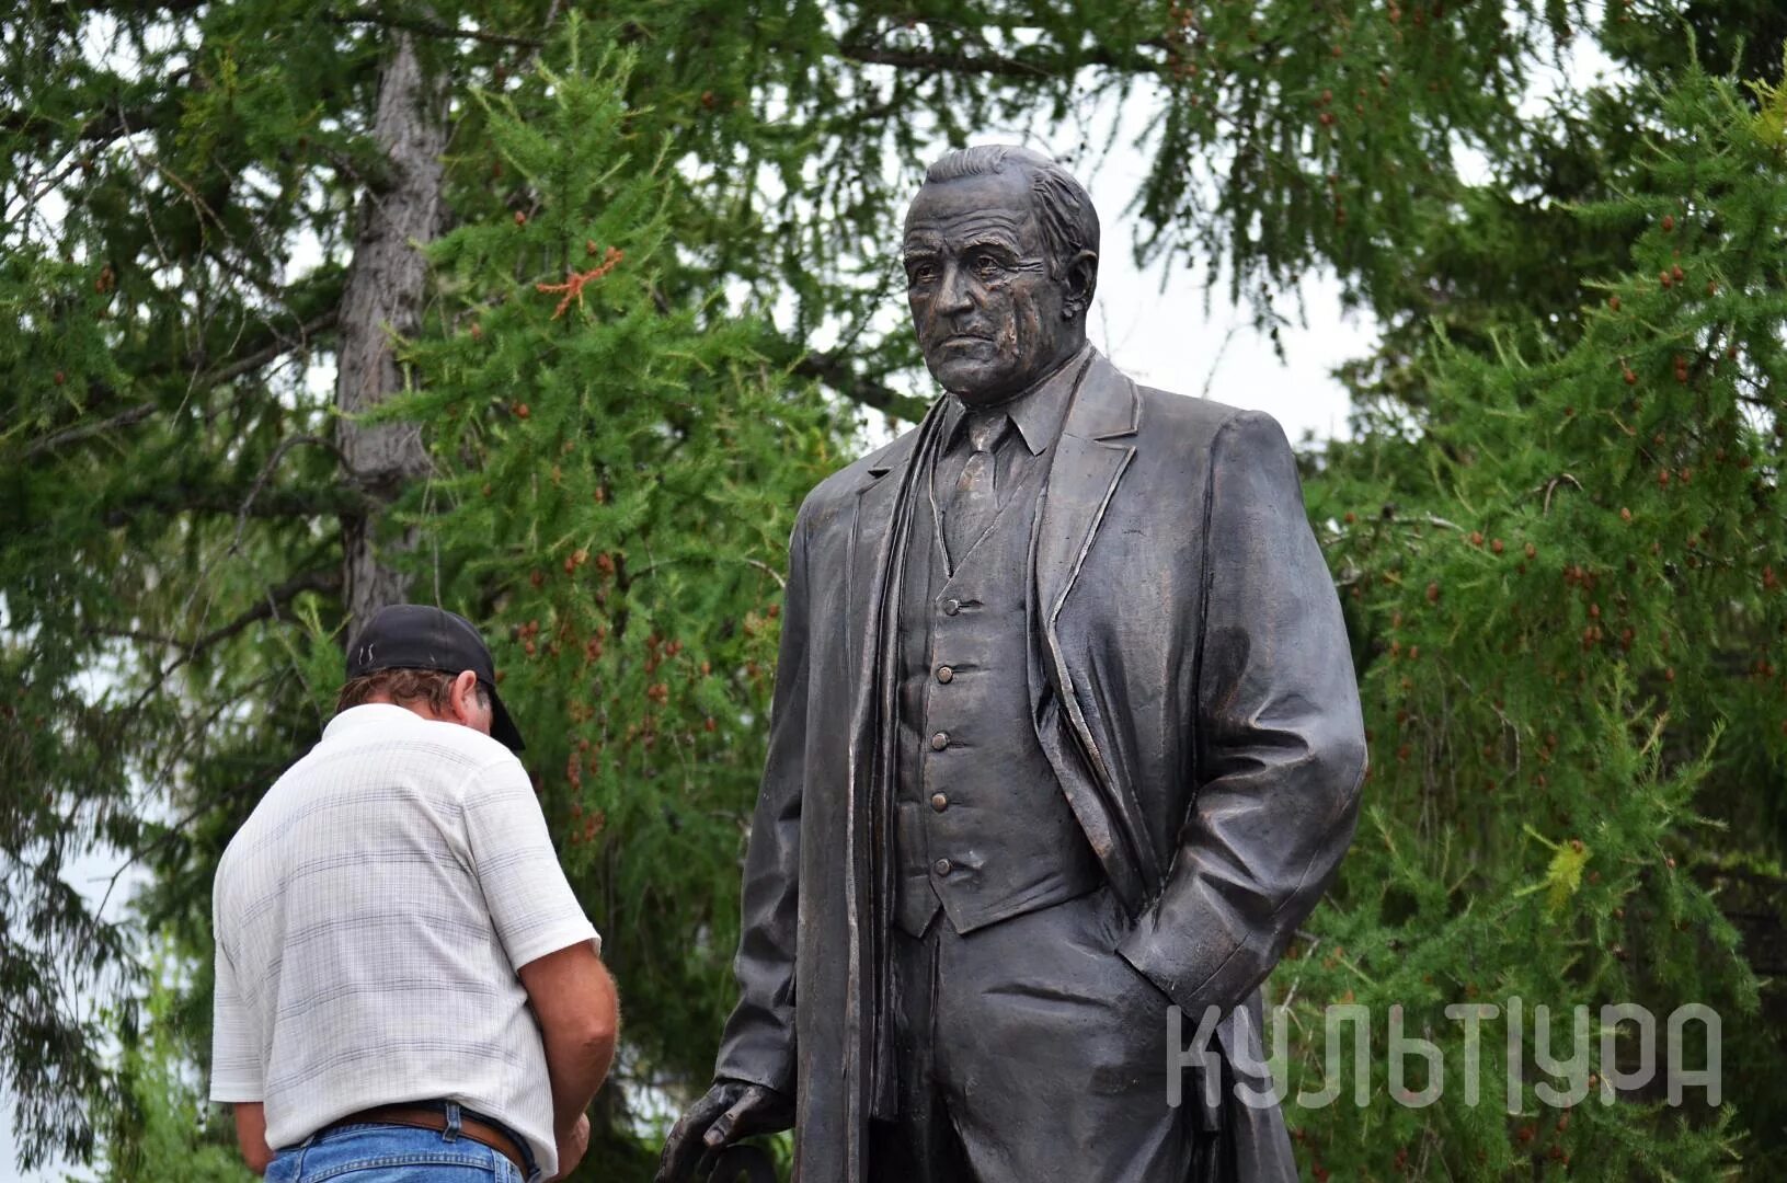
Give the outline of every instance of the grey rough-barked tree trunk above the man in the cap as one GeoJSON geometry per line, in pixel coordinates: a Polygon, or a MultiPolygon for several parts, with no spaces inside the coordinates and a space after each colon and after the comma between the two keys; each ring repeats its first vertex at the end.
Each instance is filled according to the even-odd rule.
{"type": "Polygon", "coordinates": [[[338,440],[347,479],[366,495],[368,506],[341,518],[350,633],[386,604],[402,602],[409,590],[409,579],[390,559],[415,545],[415,531],[384,531],[381,518],[429,466],[418,425],[366,427],[356,420],[404,388],[393,341],[420,329],[427,266],[418,247],[434,236],[441,204],[445,102],[422,71],[415,39],[399,32],[379,77],[373,122],[373,138],[390,161],[390,182],[363,198],[340,316],[338,440]]]}

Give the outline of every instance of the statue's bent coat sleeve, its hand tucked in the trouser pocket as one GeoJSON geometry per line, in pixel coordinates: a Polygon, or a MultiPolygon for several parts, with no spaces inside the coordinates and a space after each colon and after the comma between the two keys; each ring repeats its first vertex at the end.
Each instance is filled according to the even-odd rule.
{"type": "Polygon", "coordinates": [[[1119,954],[1174,1003],[1260,985],[1353,840],[1365,733],[1340,600],[1283,431],[1217,429],[1204,502],[1197,790],[1160,897],[1119,954]]]}

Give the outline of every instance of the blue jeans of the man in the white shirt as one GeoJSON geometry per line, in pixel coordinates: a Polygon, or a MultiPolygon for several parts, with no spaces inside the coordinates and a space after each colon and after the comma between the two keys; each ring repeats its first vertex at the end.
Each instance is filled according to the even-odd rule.
{"type": "Polygon", "coordinates": [[[336,1126],[273,1154],[266,1183],[525,1183],[515,1163],[459,1133],[459,1106],[447,1106],[449,1129],[336,1126]]]}

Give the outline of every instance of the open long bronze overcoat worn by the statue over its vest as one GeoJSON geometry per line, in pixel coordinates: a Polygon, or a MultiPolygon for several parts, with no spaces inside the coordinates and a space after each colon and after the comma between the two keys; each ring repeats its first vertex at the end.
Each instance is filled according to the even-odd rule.
{"type": "MultiPolygon", "coordinates": [[[[795,1097],[806,1183],[867,1179],[894,861],[892,595],[940,407],[820,482],[788,547],[717,1076],[795,1097]]],[[[1113,956],[1185,1008],[1187,1031],[1219,1006],[1237,1076],[1237,1060],[1263,1061],[1258,986],[1351,842],[1365,770],[1346,625],[1283,431],[1092,354],[1029,556],[1011,577],[1028,581],[1033,720],[1128,911],[1113,956]]],[[[1276,1106],[1226,1090],[1219,1124],[1233,1178],[1296,1178],[1276,1106]]]]}

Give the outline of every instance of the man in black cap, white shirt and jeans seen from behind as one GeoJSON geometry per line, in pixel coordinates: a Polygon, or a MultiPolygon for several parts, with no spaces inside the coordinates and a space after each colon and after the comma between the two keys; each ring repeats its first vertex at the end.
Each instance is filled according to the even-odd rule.
{"type": "Polygon", "coordinates": [[[615,1054],[600,936],[461,617],[399,604],[223,851],[211,1099],[279,1183],[568,1174],[615,1054]]]}

